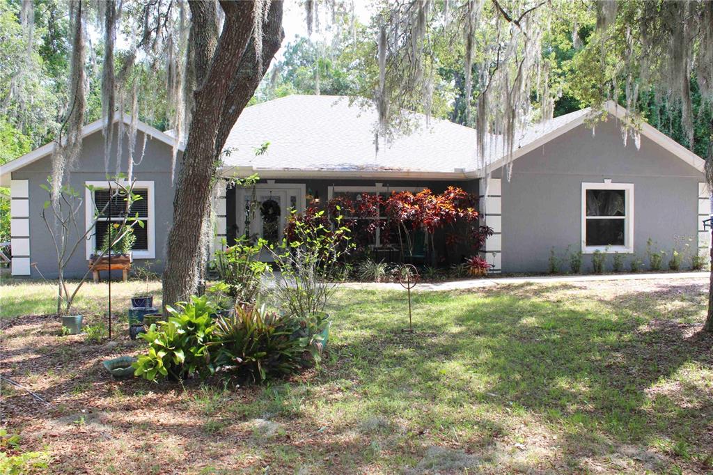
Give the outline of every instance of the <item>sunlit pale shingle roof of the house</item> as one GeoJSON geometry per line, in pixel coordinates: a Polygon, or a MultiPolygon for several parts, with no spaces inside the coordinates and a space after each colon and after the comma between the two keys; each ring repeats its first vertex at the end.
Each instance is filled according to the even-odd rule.
{"type": "MultiPolygon", "coordinates": [[[[588,109],[560,116],[516,135],[525,145],[571,121],[588,109]]],[[[389,143],[374,145],[377,122],[374,107],[350,106],[344,96],[294,95],[245,108],[225,148],[227,166],[252,166],[268,170],[402,171],[468,173],[478,171],[476,131],[473,128],[414,113],[420,124],[389,143]],[[254,149],[270,142],[267,153],[254,149]]],[[[502,143],[488,140],[491,161],[503,156],[502,143]]],[[[516,147],[517,148],[517,147],[516,147]]]]}

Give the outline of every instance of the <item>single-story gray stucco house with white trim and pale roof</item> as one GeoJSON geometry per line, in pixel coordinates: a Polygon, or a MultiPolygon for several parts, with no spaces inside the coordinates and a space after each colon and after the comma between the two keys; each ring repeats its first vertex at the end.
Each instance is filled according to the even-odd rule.
{"type": "MultiPolygon", "coordinates": [[[[649,239],[669,252],[689,245],[691,252],[707,254],[710,235],[702,220],[711,207],[704,160],[647,124],[640,129],[638,147],[633,139],[625,145],[620,119],[627,112],[615,103],[606,108],[607,121],[594,131],[588,109],[520,131],[511,166],[499,141],[490,141],[487,164],[478,167],[476,131],[471,128],[436,119],[425,124],[414,114],[424,124],[381,143],[377,153],[374,110],[349,106],[347,98],[288,96],[245,109],[227,140],[222,174],[260,175],[255,198],[279,203],[280,235],[289,210],[302,212],[315,198],[460,186],[481,195],[481,219],[495,230],[483,252],[494,272],[543,272],[553,247],[558,252],[582,250],[585,269],[595,250],[643,257],[649,239]],[[256,155],[255,149],[266,142],[267,152],[256,155]]],[[[130,118],[117,115],[116,121],[128,123],[130,118]]],[[[83,135],[71,185],[101,188],[106,185],[101,122],[86,126],[83,135]]],[[[133,257],[163,260],[173,216],[170,164],[175,143],[170,133],[140,123],[137,143],[144,139],[145,153],[134,176],[137,190],[145,195],[140,217],[146,226],[133,257]]],[[[36,277],[35,265],[46,276],[56,275],[51,240],[40,218],[47,199],[40,185],[51,173],[53,146],[0,167],[0,184],[11,187],[13,275],[36,277]]],[[[180,155],[182,146],[176,147],[180,155]]],[[[245,232],[249,193],[225,187],[219,191],[214,247],[245,232]]],[[[90,206],[86,204],[88,217],[90,206]]],[[[253,220],[249,231],[267,233],[261,220],[253,220]]],[[[270,232],[275,233],[274,227],[270,232]]],[[[69,274],[86,271],[95,245],[96,236],[78,252],[69,274]]]]}

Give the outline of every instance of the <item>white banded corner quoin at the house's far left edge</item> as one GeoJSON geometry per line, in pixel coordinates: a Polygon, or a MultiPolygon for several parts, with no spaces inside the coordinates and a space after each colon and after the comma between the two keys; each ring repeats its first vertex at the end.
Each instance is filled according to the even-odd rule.
{"type": "Polygon", "coordinates": [[[30,275],[29,180],[10,181],[12,275],[30,275]]]}

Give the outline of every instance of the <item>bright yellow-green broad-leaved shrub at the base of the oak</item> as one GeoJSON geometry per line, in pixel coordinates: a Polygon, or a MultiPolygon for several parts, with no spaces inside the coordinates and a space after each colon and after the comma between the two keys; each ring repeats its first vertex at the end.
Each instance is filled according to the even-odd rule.
{"type": "Polygon", "coordinates": [[[178,310],[166,305],[170,314],[167,322],[151,325],[140,334],[149,344],[148,353],[138,357],[133,364],[134,375],[149,381],[172,377],[181,379],[199,374],[201,377],[215,372],[208,352],[214,339],[210,315],[217,311],[207,297],[192,297],[190,303],[179,302],[178,310]]]}

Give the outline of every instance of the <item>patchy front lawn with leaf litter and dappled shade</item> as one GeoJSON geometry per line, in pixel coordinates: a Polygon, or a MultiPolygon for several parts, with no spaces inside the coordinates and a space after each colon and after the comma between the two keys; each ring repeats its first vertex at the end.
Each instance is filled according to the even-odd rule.
{"type": "Polygon", "coordinates": [[[704,280],[416,292],[413,334],[404,292],[342,290],[323,366],[264,387],[113,381],[101,360],[142,348],[125,323],[118,344],[59,337],[16,317],[51,300],[34,287],[0,289],[0,373],[51,405],[3,384],[0,414],[55,471],[713,471],[704,280]]]}

